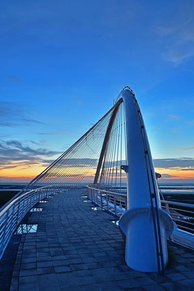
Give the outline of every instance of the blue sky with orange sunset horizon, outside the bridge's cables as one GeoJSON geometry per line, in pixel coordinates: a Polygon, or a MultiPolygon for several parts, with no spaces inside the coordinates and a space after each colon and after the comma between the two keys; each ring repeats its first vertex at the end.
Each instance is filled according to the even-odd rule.
{"type": "Polygon", "coordinates": [[[193,0],[0,3],[0,180],[29,182],[129,86],[161,182],[194,183],[193,0]]]}

